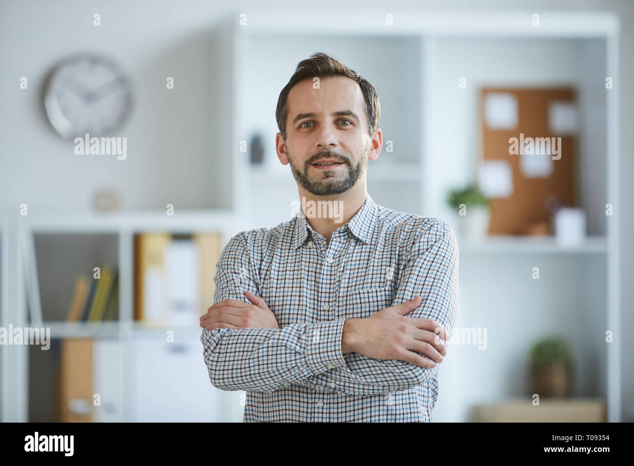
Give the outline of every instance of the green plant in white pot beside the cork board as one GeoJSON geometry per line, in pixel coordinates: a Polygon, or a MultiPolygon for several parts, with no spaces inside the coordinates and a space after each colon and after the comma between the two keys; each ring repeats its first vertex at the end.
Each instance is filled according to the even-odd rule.
{"type": "Polygon", "coordinates": [[[458,215],[460,236],[475,240],[486,238],[491,218],[491,203],[475,184],[449,191],[447,202],[458,215]]]}

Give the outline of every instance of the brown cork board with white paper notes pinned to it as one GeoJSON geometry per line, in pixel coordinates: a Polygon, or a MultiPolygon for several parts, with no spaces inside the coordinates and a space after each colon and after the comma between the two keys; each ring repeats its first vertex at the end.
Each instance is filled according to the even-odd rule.
{"type": "MultiPolygon", "coordinates": [[[[510,167],[511,180],[505,185],[512,186],[512,192],[507,197],[487,196],[491,202],[489,235],[524,235],[531,225],[550,221],[550,212],[546,208],[545,201],[551,194],[564,205],[570,207],[578,205],[577,183],[574,176],[577,164],[574,134],[575,103],[576,95],[571,87],[481,89],[479,113],[482,160],[480,163],[506,162],[510,167]],[[511,128],[511,122],[508,121],[507,126],[503,126],[503,122],[494,123],[494,127],[489,126],[486,115],[488,94],[497,94],[497,97],[493,98],[494,101],[496,98],[500,99],[500,94],[513,96],[513,99],[504,98],[506,104],[498,101],[493,107],[500,116],[504,108],[507,110],[514,108],[514,104],[510,102],[516,101],[517,124],[515,127],[511,128]],[[555,120],[551,122],[551,119],[555,120]],[[553,126],[555,126],[554,129],[553,126]],[[510,153],[512,138],[517,140],[515,149],[520,146],[519,141],[521,141],[521,154],[510,153]],[[545,146],[545,143],[552,143],[552,145],[545,146]],[[528,149],[527,153],[523,153],[524,148],[528,149]],[[551,153],[548,160],[545,158],[547,151],[551,153]],[[534,159],[530,158],[531,155],[534,159]]],[[[489,122],[490,120],[489,118],[489,122]]],[[[503,187],[504,184],[497,183],[498,190],[500,186],[503,187]]]]}

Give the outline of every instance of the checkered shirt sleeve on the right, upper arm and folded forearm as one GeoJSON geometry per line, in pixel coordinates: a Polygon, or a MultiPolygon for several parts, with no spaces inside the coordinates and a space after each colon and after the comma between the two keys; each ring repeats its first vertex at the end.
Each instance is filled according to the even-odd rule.
{"type": "MultiPolygon", "coordinates": [[[[432,319],[450,333],[458,312],[458,242],[449,224],[439,220],[415,241],[396,285],[392,306],[420,295],[420,306],[407,317],[432,319]]],[[[422,353],[421,356],[425,356],[422,353]]],[[[350,353],[346,364],[309,379],[313,389],[351,395],[384,394],[422,385],[438,366],[423,368],[397,359],[373,359],[350,353]]]]}

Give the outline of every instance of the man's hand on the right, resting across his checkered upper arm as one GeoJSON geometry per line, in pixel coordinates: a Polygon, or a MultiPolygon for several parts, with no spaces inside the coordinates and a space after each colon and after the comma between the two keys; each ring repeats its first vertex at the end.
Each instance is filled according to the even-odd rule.
{"type": "Polygon", "coordinates": [[[434,361],[441,363],[447,354],[443,340],[448,339],[448,332],[433,320],[405,317],[419,305],[420,296],[417,296],[397,306],[385,307],[364,319],[346,319],[341,339],[342,353],[359,353],[373,359],[398,359],[420,367],[435,367],[434,361]]]}

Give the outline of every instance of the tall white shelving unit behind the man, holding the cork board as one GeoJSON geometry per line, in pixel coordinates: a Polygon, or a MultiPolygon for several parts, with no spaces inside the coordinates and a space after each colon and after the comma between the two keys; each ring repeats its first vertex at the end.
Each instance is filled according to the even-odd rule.
{"type": "MultiPolygon", "coordinates": [[[[368,165],[368,192],[374,200],[392,209],[440,217],[453,225],[453,212],[444,204],[446,192],[471,181],[474,164],[481,157],[477,148],[477,100],[473,91],[460,93],[460,77],[467,76],[468,89],[559,84],[578,88],[583,115],[579,131],[579,205],[589,212],[588,238],[574,247],[562,247],[553,238],[492,236],[484,242],[458,238],[462,252],[460,318],[465,318],[459,325],[476,325],[464,322],[477,318],[491,322],[495,316],[514,312],[519,316],[533,313],[537,323],[522,322],[521,328],[526,331],[519,332],[520,338],[499,337],[496,341],[519,354],[527,353],[530,335],[537,337],[547,332],[549,325],[559,325],[572,337],[576,346],[573,351],[579,358],[599,358],[595,365],[579,366],[578,380],[583,382],[579,394],[606,399],[609,420],[618,421],[619,346],[601,344],[597,335],[591,347],[583,347],[579,338],[603,326],[618,333],[619,226],[616,216],[605,217],[604,206],[618,203],[619,94],[616,86],[609,92],[603,87],[605,76],[618,76],[619,22],[605,11],[543,10],[536,27],[534,13],[390,11],[391,18],[387,18],[385,11],[373,10],[294,15],[274,8],[250,9],[248,25],[236,24],[233,28],[234,137],[237,144],[261,134],[264,161],[252,165],[248,157],[236,159],[245,186],[242,195],[249,199],[242,210],[248,219],[244,226],[272,227],[287,221],[290,205],[298,200],[290,167],[276,159],[275,107],[295,65],[315,51],[334,55],[377,88],[384,152],[368,165]],[[285,18],[283,33],[280,17],[285,18]],[[387,25],[389,19],[393,25],[387,25]],[[477,61],[484,65],[474,72],[477,61]],[[402,86],[389,85],[394,75],[402,86]],[[588,136],[591,132],[586,131],[590,129],[592,139],[588,136]],[[387,141],[394,143],[394,152],[385,152],[387,141]],[[526,282],[526,296],[522,290],[517,290],[515,297],[504,295],[515,288],[501,285],[500,290],[500,280],[529,280],[531,275],[526,270],[537,264],[548,276],[557,276],[559,282],[526,282]],[[516,309],[505,309],[506,302],[516,302],[516,309]],[[587,380],[605,380],[605,384],[588,384],[587,380]]],[[[494,330],[496,337],[514,333],[513,328],[494,330]]],[[[497,353],[493,356],[495,359],[497,353]]],[[[455,358],[455,363],[448,359],[448,366],[443,368],[445,383],[453,387],[463,386],[468,368],[481,363],[481,359],[469,359],[473,355],[461,357],[455,358]]],[[[519,366],[518,362],[517,358],[496,359],[498,367],[519,366]]],[[[491,377],[500,379],[495,373],[491,377]]],[[[448,403],[465,406],[487,396],[522,395],[518,391],[524,375],[516,370],[508,377],[514,382],[495,382],[473,399],[447,385],[441,393],[448,403]]],[[[462,407],[442,403],[443,397],[437,405],[442,420],[466,418],[462,407]]]]}

